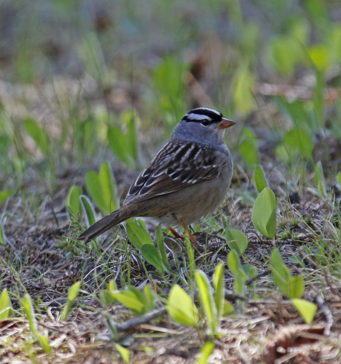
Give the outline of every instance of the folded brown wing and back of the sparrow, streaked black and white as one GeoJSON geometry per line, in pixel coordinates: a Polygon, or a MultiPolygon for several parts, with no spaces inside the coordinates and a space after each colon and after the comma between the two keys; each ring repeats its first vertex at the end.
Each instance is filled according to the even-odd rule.
{"type": "Polygon", "coordinates": [[[141,172],[124,203],[172,193],[204,179],[217,177],[215,150],[192,142],[168,142],[141,172]]]}

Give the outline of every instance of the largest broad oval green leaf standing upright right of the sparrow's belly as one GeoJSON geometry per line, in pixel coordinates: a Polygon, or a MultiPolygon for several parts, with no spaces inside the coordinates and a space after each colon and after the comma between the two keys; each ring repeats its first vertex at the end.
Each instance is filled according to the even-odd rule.
{"type": "Polygon", "coordinates": [[[270,239],[275,237],[276,229],[276,197],[272,190],[265,187],[254,201],[252,222],[254,227],[270,239]]]}

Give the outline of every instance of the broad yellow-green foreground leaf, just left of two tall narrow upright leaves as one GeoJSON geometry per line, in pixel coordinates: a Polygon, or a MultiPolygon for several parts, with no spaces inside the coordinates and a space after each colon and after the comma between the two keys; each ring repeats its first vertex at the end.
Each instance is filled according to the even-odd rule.
{"type": "Polygon", "coordinates": [[[194,305],[192,298],[177,284],[169,292],[166,309],[169,316],[175,322],[186,326],[198,327],[198,309],[194,305]]]}

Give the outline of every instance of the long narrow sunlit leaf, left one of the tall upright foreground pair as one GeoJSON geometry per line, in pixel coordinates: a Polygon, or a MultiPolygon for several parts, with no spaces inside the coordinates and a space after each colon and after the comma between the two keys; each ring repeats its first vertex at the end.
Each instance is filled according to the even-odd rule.
{"type": "Polygon", "coordinates": [[[218,314],[216,303],[214,302],[211,285],[209,280],[202,270],[194,272],[201,307],[206,316],[206,323],[209,328],[209,334],[216,334],[218,329],[218,314]]]}

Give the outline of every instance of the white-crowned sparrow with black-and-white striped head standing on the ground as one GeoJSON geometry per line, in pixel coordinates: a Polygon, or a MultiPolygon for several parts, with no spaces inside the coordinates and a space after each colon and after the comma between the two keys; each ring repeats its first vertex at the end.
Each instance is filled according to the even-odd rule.
{"type": "Polygon", "coordinates": [[[93,240],[131,217],[152,217],[164,226],[180,224],[188,230],[186,225],[214,212],[232,178],[233,161],[224,134],[234,124],[208,107],[189,111],[131,185],[123,206],[78,238],[93,240]]]}

